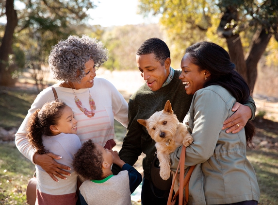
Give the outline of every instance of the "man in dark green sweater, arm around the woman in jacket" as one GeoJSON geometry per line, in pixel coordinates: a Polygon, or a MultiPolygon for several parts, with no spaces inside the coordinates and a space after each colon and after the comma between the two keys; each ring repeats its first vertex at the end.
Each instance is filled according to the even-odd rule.
{"type": "MultiPolygon", "coordinates": [[[[150,167],[155,157],[155,141],[148,135],[146,128],[137,122],[148,119],[156,111],[164,109],[165,102],[170,100],[172,109],[180,122],[189,110],[192,97],[187,95],[179,79],[180,70],[170,67],[170,51],[164,41],[158,38],[147,39],[136,52],[136,61],[141,76],[146,83],[142,85],[129,101],[129,124],[119,152],[120,158],[131,166],[143,152],[144,179],[141,193],[142,205],[166,205],[168,193],[154,187],[150,181],[150,167]]],[[[206,106],[204,102],[204,106],[206,106]]],[[[226,132],[239,132],[249,119],[255,117],[256,106],[252,98],[248,104],[236,103],[235,114],[227,119],[223,129],[226,132]]],[[[114,174],[120,171],[113,167],[114,174]]]]}

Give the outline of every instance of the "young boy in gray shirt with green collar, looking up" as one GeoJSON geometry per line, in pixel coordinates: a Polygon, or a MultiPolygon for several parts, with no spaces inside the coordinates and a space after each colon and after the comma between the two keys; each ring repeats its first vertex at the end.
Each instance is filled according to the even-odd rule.
{"type": "Polygon", "coordinates": [[[81,205],[131,205],[131,193],[140,185],[141,174],[120,159],[117,151],[91,139],[74,155],[74,170],[86,179],[79,188],[81,205]],[[122,171],[113,175],[112,164],[122,171]]]}

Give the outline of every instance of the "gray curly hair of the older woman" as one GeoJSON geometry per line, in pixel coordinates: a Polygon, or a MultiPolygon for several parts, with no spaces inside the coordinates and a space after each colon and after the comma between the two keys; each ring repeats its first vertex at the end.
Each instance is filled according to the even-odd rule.
{"type": "Polygon", "coordinates": [[[108,50],[101,41],[87,35],[81,38],[70,35],[52,47],[48,62],[54,79],[80,83],[85,76],[86,62],[93,60],[99,67],[107,59],[108,50]]]}

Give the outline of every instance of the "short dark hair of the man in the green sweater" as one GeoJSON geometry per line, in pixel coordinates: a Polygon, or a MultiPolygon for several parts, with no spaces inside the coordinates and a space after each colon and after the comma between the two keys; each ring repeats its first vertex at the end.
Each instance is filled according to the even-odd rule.
{"type": "Polygon", "coordinates": [[[159,38],[147,39],[136,52],[136,55],[154,54],[155,60],[163,66],[167,58],[170,58],[170,51],[165,42],[159,38]]]}

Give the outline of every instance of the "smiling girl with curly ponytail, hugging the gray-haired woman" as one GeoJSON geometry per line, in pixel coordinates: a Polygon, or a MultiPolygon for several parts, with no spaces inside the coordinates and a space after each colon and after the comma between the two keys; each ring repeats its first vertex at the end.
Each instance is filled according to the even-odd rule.
{"type": "MultiPolygon", "coordinates": [[[[36,154],[50,152],[62,155],[60,163],[71,165],[74,154],[81,147],[77,120],[72,109],[63,101],[48,102],[30,116],[27,138],[36,154]]],[[[49,174],[36,165],[38,205],[75,205],[77,202],[77,173],[72,166],[67,180],[53,181],[49,174]]]]}

